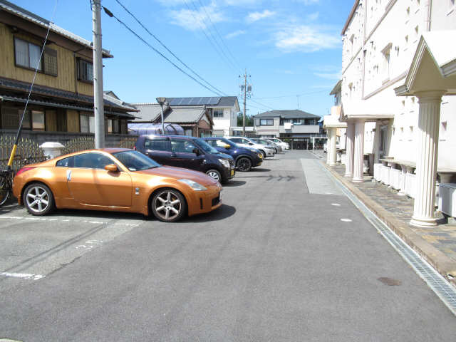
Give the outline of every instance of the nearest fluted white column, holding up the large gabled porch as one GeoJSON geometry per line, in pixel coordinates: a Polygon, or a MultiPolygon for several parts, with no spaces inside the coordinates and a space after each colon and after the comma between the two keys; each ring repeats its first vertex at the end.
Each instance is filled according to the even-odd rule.
{"type": "Polygon", "coordinates": [[[417,93],[420,103],[418,115],[418,159],[416,162],[416,196],[410,224],[418,227],[434,227],[435,178],[439,143],[440,103],[442,92],[417,93]]]}

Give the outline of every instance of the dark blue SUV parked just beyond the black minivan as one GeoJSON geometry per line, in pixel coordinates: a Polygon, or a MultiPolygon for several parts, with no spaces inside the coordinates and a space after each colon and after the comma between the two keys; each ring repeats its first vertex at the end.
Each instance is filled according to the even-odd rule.
{"type": "Polygon", "coordinates": [[[231,155],[239,171],[250,171],[252,167],[261,165],[263,155],[259,150],[239,146],[227,138],[204,138],[204,140],[219,152],[231,155]]]}

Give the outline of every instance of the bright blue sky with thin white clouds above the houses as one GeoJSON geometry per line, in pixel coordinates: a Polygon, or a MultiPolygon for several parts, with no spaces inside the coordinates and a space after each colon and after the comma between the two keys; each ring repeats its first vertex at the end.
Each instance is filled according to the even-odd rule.
{"type": "MultiPolygon", "coordinates": [[[[199,76],[227,95],[240,94],[239,75],[247,68],[252,100],[258,102],[247,100],[247,114],[299,105],[309,113],[326,115],[331,108],[328,93],[341,71],[340,33],[353,0],[119,1],[199,76]],[[207,36],[218,43],[210,43],[207,36]]],[[[54,18],[56,0],[12,2],[92,40],[89,0],[58,0],[54,18]]],[[[170,56],[115,0],[102,4],[170,56]]],[[[103,47],[114,55],[103,61],[105,90],[131,103],[152,102],[157,96],[215,95],[104,13],[102,26],[103,47]]]]}

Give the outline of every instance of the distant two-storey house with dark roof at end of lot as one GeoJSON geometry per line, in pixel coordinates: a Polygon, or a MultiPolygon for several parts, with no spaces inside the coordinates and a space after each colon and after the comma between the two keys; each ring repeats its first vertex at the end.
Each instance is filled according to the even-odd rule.
{"type": "Polygon", "coordinates": [[[281,138],[296,142],[296,148],[308,148],[321,138],[319,115],[303,110],[270,110],[254,116],[254,128],[262,138],[281,138]]]}

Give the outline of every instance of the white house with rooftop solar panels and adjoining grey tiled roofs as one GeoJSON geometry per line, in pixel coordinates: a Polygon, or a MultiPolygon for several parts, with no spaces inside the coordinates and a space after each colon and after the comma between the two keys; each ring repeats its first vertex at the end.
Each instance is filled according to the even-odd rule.
{"type": "MultiPolygon", "coordinates": [[[[185,130],[185,135],[229,136],[230,128],[236,126],[239,103],[236,96],[167,98],[163,107],[165,123],[176,123],[185,130]]],[[[160,123],[161,108],[158,103],[132,103],[139,111],[131,123],[160,123]]]]}

